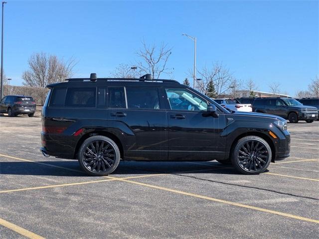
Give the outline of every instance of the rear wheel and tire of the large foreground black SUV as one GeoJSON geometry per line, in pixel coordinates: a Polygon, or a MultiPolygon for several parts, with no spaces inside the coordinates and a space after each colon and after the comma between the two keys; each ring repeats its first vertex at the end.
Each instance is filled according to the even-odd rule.
{"type": "Polygon", "coordinates": [[[106,176],[114,172],[120,159],[118,145],[112,139],[102,135],[87,138],[78,151],[82,170],[91,176],[106,176]]]}

